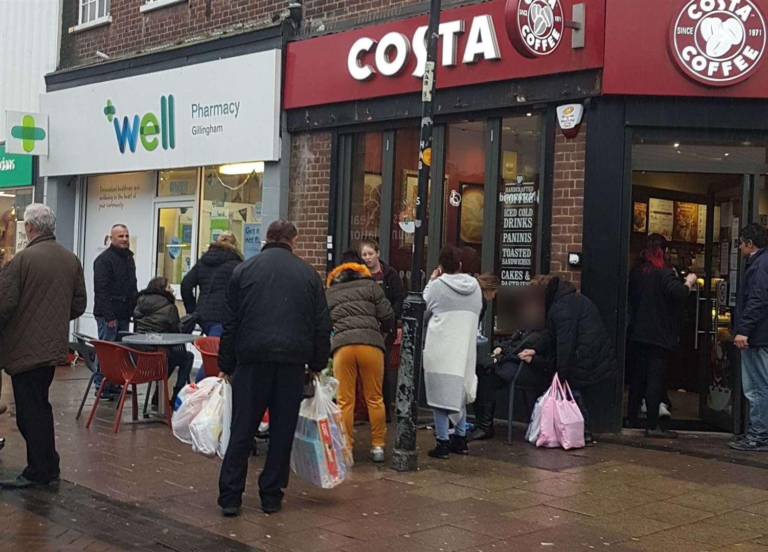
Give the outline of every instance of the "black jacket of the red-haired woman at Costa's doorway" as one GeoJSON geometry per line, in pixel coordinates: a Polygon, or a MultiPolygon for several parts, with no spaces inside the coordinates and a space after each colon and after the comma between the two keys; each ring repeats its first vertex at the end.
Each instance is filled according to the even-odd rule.
{"type": "Polygon", "coordinates": [[[631,341],[656,345],[667,351],[680,349],[680,317],[690,289],[673,269],[635,266],[629,275],[631,341]]]}

